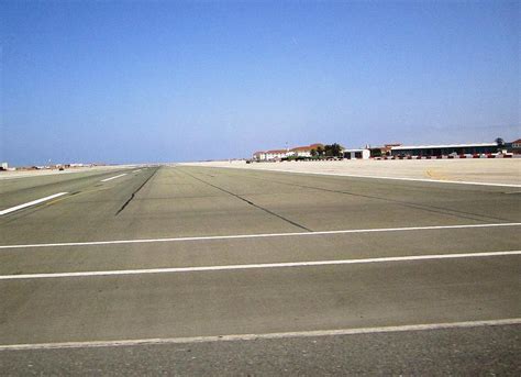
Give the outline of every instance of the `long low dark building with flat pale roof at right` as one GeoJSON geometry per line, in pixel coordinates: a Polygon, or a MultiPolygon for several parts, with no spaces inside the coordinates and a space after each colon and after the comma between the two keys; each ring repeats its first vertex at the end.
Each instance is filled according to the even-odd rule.
{"type": "Polygon", "coordinates": [[[465,154],[492,154],[498,152],[497,143],[476,144],[446,144],[446,145],[417,145],[417,146],[393,146],[392,156],[447,156],[465,154]]]}

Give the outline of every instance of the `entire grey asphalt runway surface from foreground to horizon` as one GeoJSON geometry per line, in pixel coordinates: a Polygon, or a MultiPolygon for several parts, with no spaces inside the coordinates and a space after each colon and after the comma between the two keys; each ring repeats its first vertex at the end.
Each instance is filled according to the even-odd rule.
{"type": "Polygon", "coordinates": [[[521,222],[517,188],[163,166],[0,181],[0,210],[57,192],[0,217],[3,374],[519,375],[519,324],[36,346],[519,319],[520,255],[264,266],[519,251],[521,226],[497,226],[521,222]],[[196,239],[160,241],[179,237],[196,239]],[[236,265],[256,266],[113,275],[236,265]],[[70,275],[86,271],[107,275],[70,275]]]}

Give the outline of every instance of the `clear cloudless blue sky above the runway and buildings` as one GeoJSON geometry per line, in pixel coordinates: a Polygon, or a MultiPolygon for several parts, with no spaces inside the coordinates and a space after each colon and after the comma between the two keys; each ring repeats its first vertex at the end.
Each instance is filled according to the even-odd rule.
{"type": "Polygon", "coordinates": [[[2,1],[0,159],[521,137],[520,2],[2,1]]]}

